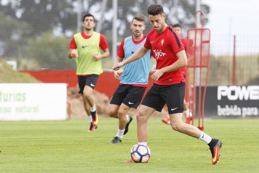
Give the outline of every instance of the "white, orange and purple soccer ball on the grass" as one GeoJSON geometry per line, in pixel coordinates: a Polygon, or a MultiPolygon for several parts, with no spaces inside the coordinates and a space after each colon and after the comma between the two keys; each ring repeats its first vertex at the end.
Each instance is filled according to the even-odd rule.
{"type": "Polygon", "coordinates": [[[151,156],[148,146],[141,144],[134,145],[130,151],[130,154],[132,160],[139,163],[146,163],[151,156]]]}

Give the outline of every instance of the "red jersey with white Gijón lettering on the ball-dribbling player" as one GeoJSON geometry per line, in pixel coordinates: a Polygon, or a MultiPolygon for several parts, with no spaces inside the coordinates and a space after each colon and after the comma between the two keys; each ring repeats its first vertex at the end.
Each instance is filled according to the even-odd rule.
{"type": "MultiPolygon", "coordinates": [[[[178,60],[175,53],[184,50],[182,37],[169,25],[161,34],[154,29],[149,31],[144,47],[153,51],[152,55],[156,58],[156,69],[172,65],[178,60]]],[[[184,81],[183,74],[178,69],[164,73],[155,83],[159,85],[172,85],[184,81]]]]}

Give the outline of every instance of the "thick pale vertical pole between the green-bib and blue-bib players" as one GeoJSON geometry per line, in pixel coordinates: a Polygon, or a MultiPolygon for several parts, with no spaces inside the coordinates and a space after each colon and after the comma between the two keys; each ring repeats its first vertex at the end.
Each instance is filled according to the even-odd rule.
{"type": "Polygon", "coordinates": [[[112,22],[112,62],[117,58],[117,0],[112,0],[113,22],[112,22]]]}

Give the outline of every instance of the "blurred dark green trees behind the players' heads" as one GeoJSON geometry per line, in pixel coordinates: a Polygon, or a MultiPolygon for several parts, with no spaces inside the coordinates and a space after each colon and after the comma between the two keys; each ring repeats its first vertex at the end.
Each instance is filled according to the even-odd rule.
{"type": "MultiPolygon", "coordinates": [[[[91,13],[97,22],[100,20],[102,0],[4,0],[0,1],[0,54],[9,59],[36,59],[37,68],[75,68],[75,63],[67,58],[71,37],[76,33],[78,8],[84,13],[91,13]]],[[[169,25],[180,23],[184,33],[194,27],[195,0],[119,0],[118,1],[118,35],[119,42],[132,34],[129,24],[138,13],[147,16],[150,4],[161,3],[167,14],[169,25]]],[[[202,6],[209,12],[206,5],[202,6]]],[[[103,19],[101,33],[107,37],[111,47],[113,9],[108,1],[103,19]]],[[[152,29],[146,20],[146,31],[152,29]]],[[[21,64],[21,63],[20,63],[21,64]]],[[[19,68],[35,68],[18,66],[19,68]]]]}

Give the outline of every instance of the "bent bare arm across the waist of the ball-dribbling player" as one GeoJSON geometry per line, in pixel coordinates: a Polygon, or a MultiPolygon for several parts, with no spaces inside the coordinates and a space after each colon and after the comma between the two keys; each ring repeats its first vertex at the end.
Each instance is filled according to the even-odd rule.
{"type": "Polygon", "coordinates": [[[161,68],[159,70],[152,70],[154,73],[151,75],[151,79],[157,81],[164,73],[176,71],[182,67],[187,66],[187,57],[185,50],[176,52],[176,56],[178,60],[175,61],[174,64],[161,68]]]}

